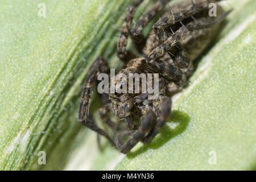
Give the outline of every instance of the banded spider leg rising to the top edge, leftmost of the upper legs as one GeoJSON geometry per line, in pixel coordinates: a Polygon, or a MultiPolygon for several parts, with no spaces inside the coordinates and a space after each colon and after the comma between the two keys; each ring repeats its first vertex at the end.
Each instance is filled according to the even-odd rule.
{"type": "Polygon", "coordinates": [[[135,8],[139,6],[142,1],[143,0],[134,1],[131,6],[128,7],[125,15],[125,22],[123,22],[121,36],[119,37],[117,43],[117,56],[123,61],[130,60],[132,57],[131,53],[126,51],[127,38],[130,33],[131,23],[134,18],[135,8]]]}

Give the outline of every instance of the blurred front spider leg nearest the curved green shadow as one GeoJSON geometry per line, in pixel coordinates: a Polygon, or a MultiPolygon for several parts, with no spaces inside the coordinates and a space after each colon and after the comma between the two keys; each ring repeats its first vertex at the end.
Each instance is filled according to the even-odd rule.
{"type": "Polygon", "coordinates": [[[158,119],[156,121],[155,127],[153,127],[150,132],[147,134],[145,138],[143,138],[144,143],[150,143],[162,129],[164,124],[166,123],[167,119],[169,118],[171,112],[171,98],[162,96],[159,98],[159,114],[158,119]]]}

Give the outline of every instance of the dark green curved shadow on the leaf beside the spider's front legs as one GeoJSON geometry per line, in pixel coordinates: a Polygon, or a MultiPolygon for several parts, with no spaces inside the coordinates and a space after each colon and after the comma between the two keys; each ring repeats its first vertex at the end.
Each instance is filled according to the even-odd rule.
{"type": "Polygon", "coordinates": [[[189,116],[181,111],[174,110],[171,113],[171,117],[168,124],[163,127],[160,134],[150,144],[143,144],[142,147],[136,151],[129,152],[126,156],[128,159],[135,158],[136,156],[143,154],[148,149],[157,149],[163,144],[167,143],[170,139],[183,133],[188,126],[190,121],[189,116]]]}

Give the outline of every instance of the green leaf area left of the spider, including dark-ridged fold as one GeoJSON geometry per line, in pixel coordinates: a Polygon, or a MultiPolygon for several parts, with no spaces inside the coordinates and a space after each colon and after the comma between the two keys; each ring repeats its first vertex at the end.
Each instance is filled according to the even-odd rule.
{"type": "Polygon", "coordinates": [[[42,168],[39,151],[47,168],[64,167],[82,128],[76,115],[87,68],[115,52],[130,3],[0,2],[0,169],[42,168]]]}

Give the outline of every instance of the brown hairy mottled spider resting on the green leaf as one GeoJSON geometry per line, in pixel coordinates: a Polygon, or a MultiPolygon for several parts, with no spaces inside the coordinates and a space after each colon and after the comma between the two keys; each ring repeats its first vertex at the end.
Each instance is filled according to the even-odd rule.
{"type": "MultiPolygon", "coordinates": [[[[102,102],[100,116],[111,132],[98,127],[89,112],[93,87],[99,83],[97,76],[100,73],[110,75],[106,60],[98,57],[90,66],[86,77],[78,116],[79,122],[106,137],[123,154],[129,152],[139,141],[150,143],[159,133],[170,115],[172,104],[170,97],[187,83],[193,73],[193,60],[213,40],[221,20],[231,11],[223,13],[221,7],[217,6],[217,17],[210,17],[209,3],[217,1],[184,1],[164,13],[162,18],[155,22],[150,35],[145,39],[142,36],[143,28],[162,12],[169,1],[157,1],[131,28],[135,8],[142,1],[134,1],[127,9],[117,44],[117,55],[126,65],[119,73],[127,77],[129,73],[158,73],[158,98],[150,100],[149,93],[141,92],[99,94],[102,102]],[[138,51],[144,56],[136,58],[126,50],[129,35],[138,51]],[[124,119],[125,122],[112,121],[109,117],[110,112],[124,119]],[[136,118],[141,119],[136,122],[136,118]]],[[[143,84],[148,83],[141,80],[140,90],[143,84]]]]}

